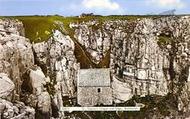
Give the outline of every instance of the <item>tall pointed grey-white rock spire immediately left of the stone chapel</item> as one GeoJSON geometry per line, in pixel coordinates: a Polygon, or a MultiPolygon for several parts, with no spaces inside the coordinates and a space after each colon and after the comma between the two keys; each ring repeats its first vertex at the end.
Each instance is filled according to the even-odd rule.
{"type": "Polygon", "coordinates": [[[47,41],[33,45],[36,62],[50,77],[50,89],[53,103],[63,116],[63,97],[76,97],[76,77],[78,64],[74,56],[74,42],[69,36],[56,30],[47,41]],[[53,92],[54,90],[54,92],[53,92]]]}

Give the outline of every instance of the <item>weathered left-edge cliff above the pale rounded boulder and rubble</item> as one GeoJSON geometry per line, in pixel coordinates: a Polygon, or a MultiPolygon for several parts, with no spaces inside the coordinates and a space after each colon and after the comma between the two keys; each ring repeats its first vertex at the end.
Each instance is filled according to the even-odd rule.
{"type": "Polygon", "coordinates": [[[29,39],[20,36],[23,25],[18,20],[0,20],[0,72],[5,73],[14,82],[13,97],[20,98],[24,72],[34,64],[32,45],[29,39]],[[4,32],[14,29],[11,33],[4,32]]]}

